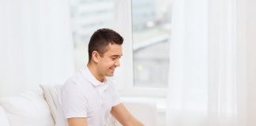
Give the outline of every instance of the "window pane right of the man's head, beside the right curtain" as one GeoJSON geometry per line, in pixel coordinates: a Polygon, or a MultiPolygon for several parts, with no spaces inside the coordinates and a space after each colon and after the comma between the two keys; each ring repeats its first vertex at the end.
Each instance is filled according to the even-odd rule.
{"type": "Polygon", "coordinates": [[[170,0],[132,0],[134,86],[168,87],[170,0]]]}

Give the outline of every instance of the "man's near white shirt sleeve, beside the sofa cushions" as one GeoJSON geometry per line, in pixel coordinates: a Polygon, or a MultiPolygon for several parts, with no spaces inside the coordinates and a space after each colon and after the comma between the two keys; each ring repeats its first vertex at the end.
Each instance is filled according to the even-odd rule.
{"type": "Polygon", "coordinates": [[[88,117],[88,100],[75,83],[62,87],[61,98],[64,117],[88,117]]]}

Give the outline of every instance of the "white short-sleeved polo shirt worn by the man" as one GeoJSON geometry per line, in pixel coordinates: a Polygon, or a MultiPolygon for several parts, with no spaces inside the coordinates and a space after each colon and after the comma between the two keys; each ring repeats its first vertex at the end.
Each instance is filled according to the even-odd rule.
{"type": "Polygon", "coordinates": [[[105,126],[111,107],[121,103],[111,78],[101,83],[87,67],[66,81],[58,101],[56,126],[68,126],[66,118],[71,117],[86,117],[88,126],[105,126]]]}

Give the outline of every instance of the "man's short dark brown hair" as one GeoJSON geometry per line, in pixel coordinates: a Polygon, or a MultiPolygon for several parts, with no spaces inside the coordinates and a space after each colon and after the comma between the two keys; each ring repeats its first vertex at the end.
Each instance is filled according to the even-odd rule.
{"type": "Polygon", "coordinates": [[[104,56],[107,51],[106,46],[111,44],[122,45],[123,38],[118,32],[109,28],[101,28],[92,34],[92,37],[88,43],[88,60],[92,59],[92,51],[96,50],[100,56],[104,56]]]}

